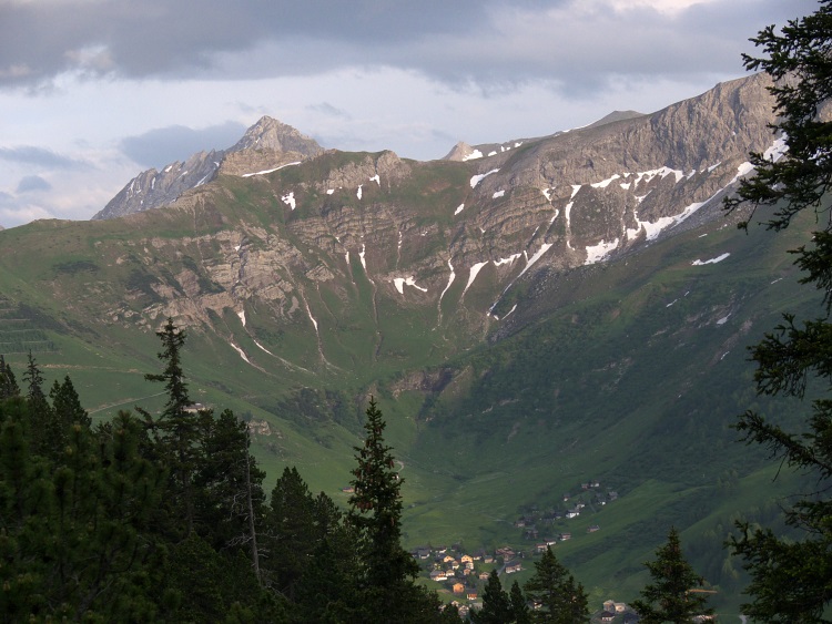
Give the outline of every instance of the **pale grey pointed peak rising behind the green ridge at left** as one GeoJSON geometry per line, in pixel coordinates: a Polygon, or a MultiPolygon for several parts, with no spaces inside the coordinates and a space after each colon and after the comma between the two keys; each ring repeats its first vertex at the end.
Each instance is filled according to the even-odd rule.
{"type": "Polygon", "coordinates": [[[186,191],[211,182],[220,172],[256,173],[322,152],[323,147],[313,139],[264,116],[229,150],[200,152],[184,163],[169,164],[161,172],[151,168],[140,173],[92,218],[115,218],[171,204],[186,191]]]}

